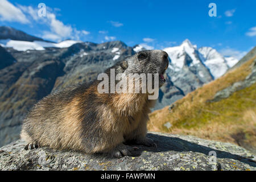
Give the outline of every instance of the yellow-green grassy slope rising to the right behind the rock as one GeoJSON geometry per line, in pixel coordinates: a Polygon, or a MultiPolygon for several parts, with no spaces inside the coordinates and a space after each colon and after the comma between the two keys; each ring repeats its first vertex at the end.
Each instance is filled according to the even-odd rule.
{"type": "Polygon", "coordinates": [[[256,151],[256,84],[224,100],[207,102],[219,90],[244,80],[255,58],[176,101],[171,111],[167,106],[151,113],[148,130],[221,140],[256,151]],[[170,129],[164,126],[167,122],[170,129]]]}

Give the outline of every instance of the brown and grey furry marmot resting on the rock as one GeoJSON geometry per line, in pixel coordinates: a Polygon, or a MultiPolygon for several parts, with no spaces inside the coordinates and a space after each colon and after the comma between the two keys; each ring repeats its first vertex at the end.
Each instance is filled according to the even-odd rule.
{"type": "MultiPolygon", "coordinates": [[[[105,73],[109,75],[110,69],[124,75],[157,73],[162,86],[167,67],[166,52],[147,50],[119,61],[105,73]]],[[[98,93],[99,82],[63,89],[35,104],[20,133],[28,142],[25,149],[48,146],[121,158],[133,151],[125,142],[155,146],[146,137],[148,113],[155,100],[148,100],[148,93],[98,93]]]]}

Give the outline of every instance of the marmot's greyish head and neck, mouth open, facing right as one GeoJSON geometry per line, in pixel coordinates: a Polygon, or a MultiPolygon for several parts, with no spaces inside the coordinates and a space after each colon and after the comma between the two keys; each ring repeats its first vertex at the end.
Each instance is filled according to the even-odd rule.
{"type": "Polygon", "coordinates": [[[149,99],[155,100],[158,98],[159,86],[166,82],[163,75],[168,68],[168,63],[168,54],[164,51],[137,52],[106,69],[106,75],[98,77],[98,80],[104,78],[98,88],[101,89],[101,93],[126,93],[127,90],[128,93],[148,93],[151,94],[148,96],[149,99]]]}

